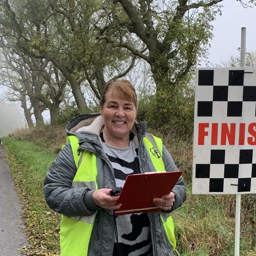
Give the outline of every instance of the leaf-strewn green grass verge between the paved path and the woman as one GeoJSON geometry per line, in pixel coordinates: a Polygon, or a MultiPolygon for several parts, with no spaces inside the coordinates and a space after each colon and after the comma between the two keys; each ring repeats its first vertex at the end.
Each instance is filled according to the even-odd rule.
{"type": "Polygon", "coordinates": [[[15,187],[23,204],[29,246],[26,255],[57,255],[60,216],[47,206],[44,177],[55,155],[18,137],[3,138],[3,148],[15,187]]]}

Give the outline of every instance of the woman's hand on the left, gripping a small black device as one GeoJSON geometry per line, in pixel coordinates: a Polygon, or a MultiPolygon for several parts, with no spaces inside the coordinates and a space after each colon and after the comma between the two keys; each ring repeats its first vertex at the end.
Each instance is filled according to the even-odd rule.
{"type": "Polygon", "coordinates": [[[109,188],[95,190],[93,193],[93,201],[101,208],[117,210],[122,206],[122,204],[117,204],[119,196],[110,196],[110,190],[111,189],[109,188]]]}

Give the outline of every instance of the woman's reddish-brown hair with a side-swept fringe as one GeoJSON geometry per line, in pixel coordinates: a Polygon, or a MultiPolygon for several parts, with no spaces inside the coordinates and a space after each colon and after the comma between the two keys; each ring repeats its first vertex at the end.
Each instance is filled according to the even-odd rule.
{"type": "Polygon", "coordinates": [[[105,103],[105,94],[110,89],[112,90],[112,94],[115,95],[116,97],[133,102],[137,109],[137,94],[136,94],[135,88],[129,80],[125,80],[125,79],[117,79],[114,81],[109,81],[106,84],[99,102],[100,108],[103,107],[105,103]]]}

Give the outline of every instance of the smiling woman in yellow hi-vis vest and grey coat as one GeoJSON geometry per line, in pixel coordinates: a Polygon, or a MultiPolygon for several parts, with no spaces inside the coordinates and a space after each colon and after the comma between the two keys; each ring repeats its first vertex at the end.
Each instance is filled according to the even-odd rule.
{"type": "MultiPolygon", "coordinates": [[[[48,205],[62,214],[61,255],[174,255],[174,234],[166,228],[173,225],[169,212],[186,198],[182,177],[169,195],[153,200],[161,217],[159,212],[113,217],[121,204],[110,190],[122,187],[129,174],[156,172],[144,138],[151,138],[151,146],[161,140],[146,134],[136,114],[134,87],[116,80],[106,84],[100,113],[80,115],[67,125],[68,143],[44,186],[48,205]]],[[[161,154],[165,170],[178,170],[164,146],[161,154]]]]}

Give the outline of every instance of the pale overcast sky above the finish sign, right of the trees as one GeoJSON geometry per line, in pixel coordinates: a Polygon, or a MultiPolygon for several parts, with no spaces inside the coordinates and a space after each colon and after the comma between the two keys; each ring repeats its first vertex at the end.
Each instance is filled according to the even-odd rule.
{"type": "Polygon", "coordinates": [[[236,0],[224,0],[222,5],[222,15],[212,23],[214,38],[210,41],[208,60],[214,64],[239,55],[242,27],[246,27],[246,51],[256,52],[256,6],[244,8],[236,0]]]}

